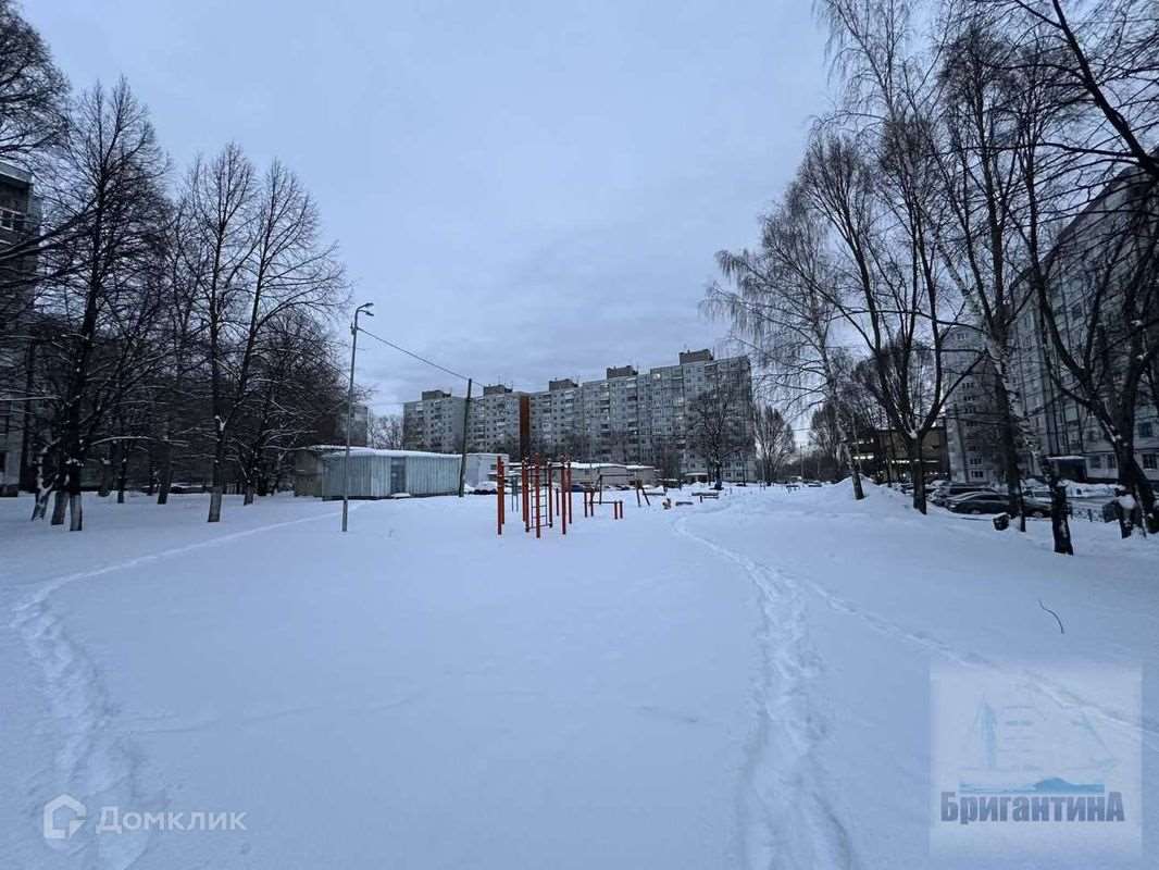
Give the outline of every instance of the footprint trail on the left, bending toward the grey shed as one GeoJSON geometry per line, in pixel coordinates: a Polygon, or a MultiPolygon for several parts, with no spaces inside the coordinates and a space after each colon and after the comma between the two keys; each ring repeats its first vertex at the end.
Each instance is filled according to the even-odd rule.
{"type": "MultiPolygon", "coordinates": [[[[136,807],[148,803],[138,785],[139,754],[127,737],[117,733],[114,722],[116,710],[108,699],[101,673],[53,614],[49,603],[52,594],[80,580],[152,565],[322,519],[333,517],[323,514],[268,523],[50,578],[39,581],[36,592],[13,608],[9,626],[23,638],[29,658],[41,670],[43,690],[60,732],[60,748],[54,760],[58,791],[78,791],[101,806],[136,807]]],[[[94,819],[88,829],[75,839],[52,844],[68,855],[81,856],[86,867],[95,870],[129,870],[147,849],[150,833],[138,831],[118,836],[94,836],[93,825],[97,822],[99,819],[94,819]]]]}

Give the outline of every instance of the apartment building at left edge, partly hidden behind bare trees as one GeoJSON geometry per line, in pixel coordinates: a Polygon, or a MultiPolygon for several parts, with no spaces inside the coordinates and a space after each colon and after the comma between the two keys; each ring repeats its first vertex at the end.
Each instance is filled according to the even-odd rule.
{"type": "Polygon", "coordinates": [[[30,313],[28,277],[36,268],[35,258],[10,252],[32,231],[37,216],[32,177],[0,164],[0,495],[16,494],[24,464],[29,408],[27,401],[14,399],[23,397],[27,380],[28,343],[21,324],[30,313]]]}

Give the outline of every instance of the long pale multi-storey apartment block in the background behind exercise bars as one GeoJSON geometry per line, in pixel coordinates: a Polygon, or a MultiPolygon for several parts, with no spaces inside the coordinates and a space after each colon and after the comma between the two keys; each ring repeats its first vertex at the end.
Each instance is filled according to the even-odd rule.
{"type": "MultiPolygon", "coordinates": [[[[709,469],[690,437],[686,407],[694,397],[729,391],[729,422],[737,444],[724,463],[729,480],[756,476],[753,429],[749,413],[752,374],[745,356],[716,360],[708,350],[685,351],[676,365],[641,374],[632,365],[606,369],[602,380],[548,382],[547,390],[522,393],[487,386],[473,398],[467,422],[471,450],[568,455],[595,462],[646,463],[665,476],[707,474],[709,469]],[[520,425],[520,419],[526,422],[520,425]]],[[[423,393],[403,405],[403,437],[410,449],[458,449],[454,420],[465,399],[443,391],[423,393]],[[445,411],[449,403],[455,411],[445,411]],[[453,419],[449,421],[449,415],[453,419]]]]}

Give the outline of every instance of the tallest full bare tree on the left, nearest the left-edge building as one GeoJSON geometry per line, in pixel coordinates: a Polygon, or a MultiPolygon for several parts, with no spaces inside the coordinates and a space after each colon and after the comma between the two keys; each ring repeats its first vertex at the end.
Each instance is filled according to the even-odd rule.
{"type": "MultiPolygon", "coordinates": [[[[96,86],[74,111],[61,174],[51,196],[54,219],[79,231],[58,252],[60,280],[50,310],[64,329],[53,342],[65,372],[53,414],[49,452],[56,479],[42,486],[37,513],[49,490],[68,494],[70,528],[82,528],[81,473],[95,440],[132,386],[156,364],[148,341],[159,307],[159,263],[167,204],[161,181],[167,161],[146,109],[129,85],[96,86]]],[[[53,523],[64,521],[58,500],[53,523]]]]}

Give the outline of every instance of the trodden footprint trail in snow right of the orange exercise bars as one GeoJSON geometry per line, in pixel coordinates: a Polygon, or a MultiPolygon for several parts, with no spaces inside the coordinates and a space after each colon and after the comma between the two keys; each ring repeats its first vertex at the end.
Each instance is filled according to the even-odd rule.
{"type": "MultiPolygon", "coordinates": [[[[732,499],[713,513],[739,503],[732,499]]],[[[756,587],[761,612],[758,720],[739,806],[745,865],[848,870],[857,865],[850,838],[814,759],[826,723],[810,703],[808,683],[823,665],[809,644],[801,587],[782,572],[688,531],[690,519],[677,519],[673,530],[739,565],[756,587]]]]}

